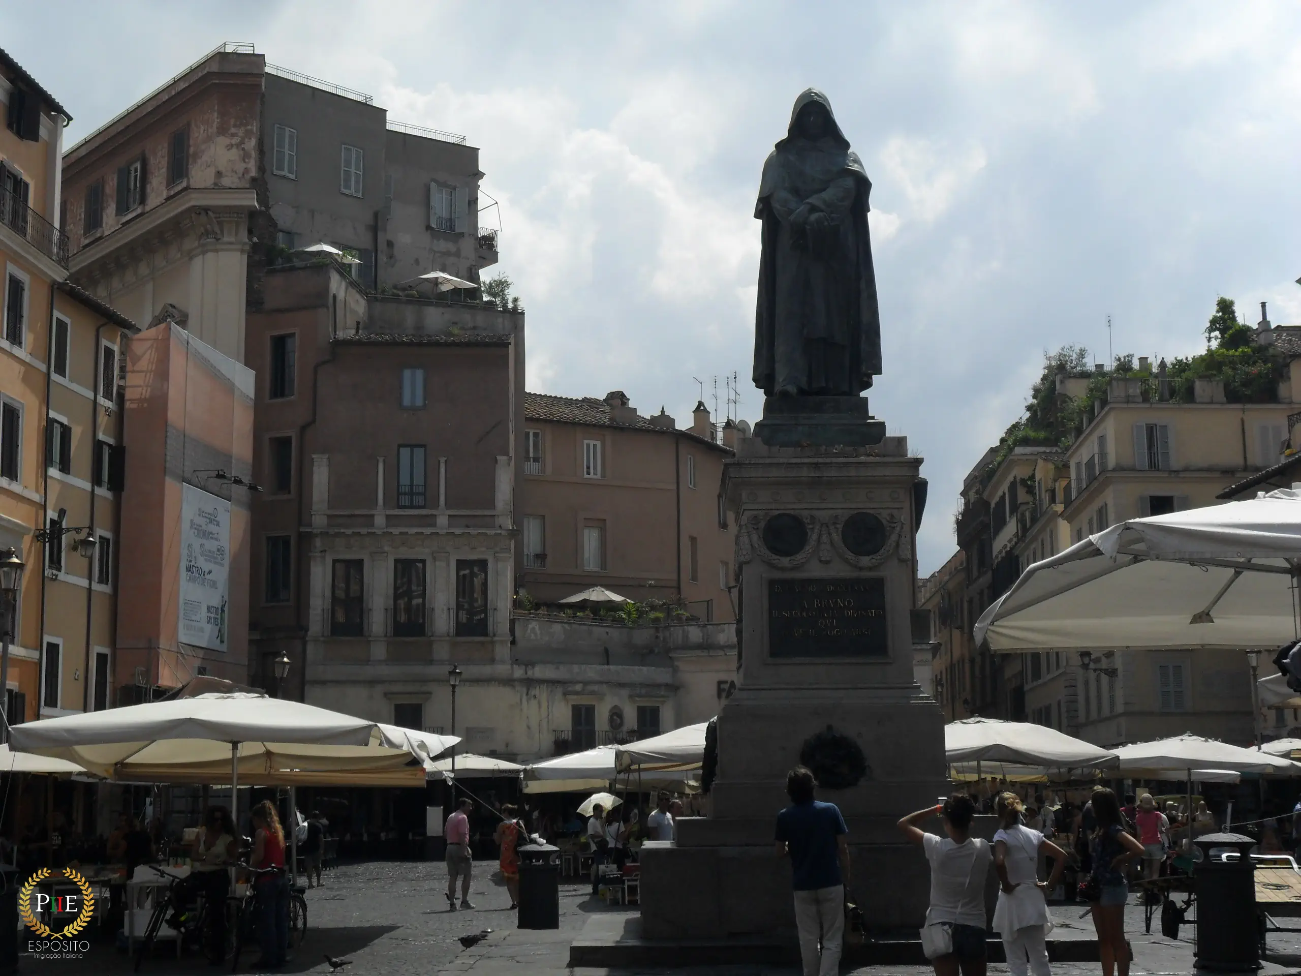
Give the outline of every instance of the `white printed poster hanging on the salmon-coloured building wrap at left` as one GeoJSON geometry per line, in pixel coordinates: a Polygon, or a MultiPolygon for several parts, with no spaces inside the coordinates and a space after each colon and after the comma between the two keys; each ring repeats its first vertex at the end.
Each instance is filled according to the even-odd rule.
{"type": "Polygon", "coordinates": [[[181,485],[180,639],[211,651],[226,649],[230,595],[230,502],[181,485]]]}

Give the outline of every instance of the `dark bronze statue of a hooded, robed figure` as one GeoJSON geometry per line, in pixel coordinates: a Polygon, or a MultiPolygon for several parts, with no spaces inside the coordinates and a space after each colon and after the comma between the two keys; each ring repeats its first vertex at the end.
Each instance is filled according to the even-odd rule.
{"type": "Polygon", "coordinates": [[[881,373],[868,238],[872,182],[816,88],[795,100],[764,163],[755,385],[773,396],[859,396],[881,373]]]}

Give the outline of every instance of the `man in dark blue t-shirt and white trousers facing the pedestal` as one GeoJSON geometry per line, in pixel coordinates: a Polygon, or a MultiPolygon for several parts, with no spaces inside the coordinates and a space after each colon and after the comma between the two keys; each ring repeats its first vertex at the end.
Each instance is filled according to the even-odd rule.
{"type": "Polygon", "coordinates": [[[844,936],[844,886],[850,884],[848,832],[839,807],[813,799],[816,787],[813,773],[804,766],[786,774],[791,806],[777,815],[777,855],[791,858],[804,976],[835,976],[844,936]]]}

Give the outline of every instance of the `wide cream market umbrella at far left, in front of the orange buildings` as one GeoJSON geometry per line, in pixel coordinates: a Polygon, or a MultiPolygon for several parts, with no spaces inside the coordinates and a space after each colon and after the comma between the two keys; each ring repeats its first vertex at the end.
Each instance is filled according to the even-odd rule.
{"type": "Polygon", "coordinates": [[[450,735],[381,725],[302,701],[209,694],[25,722],[18,752],[68,760],[129,782],[419,786],[450,735]]]}

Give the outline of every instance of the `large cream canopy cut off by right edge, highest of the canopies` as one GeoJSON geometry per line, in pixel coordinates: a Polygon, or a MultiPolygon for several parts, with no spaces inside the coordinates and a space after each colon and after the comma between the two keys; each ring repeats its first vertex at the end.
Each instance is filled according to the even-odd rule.
{"type": "Polygon", "coordinates": [[[1000,652],[1276,648],[1296,640],[1301,491],[1121,522],[1036,562],[981,614],[1000,652]]]}

